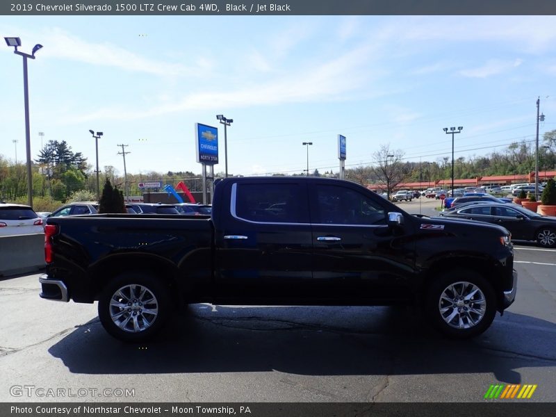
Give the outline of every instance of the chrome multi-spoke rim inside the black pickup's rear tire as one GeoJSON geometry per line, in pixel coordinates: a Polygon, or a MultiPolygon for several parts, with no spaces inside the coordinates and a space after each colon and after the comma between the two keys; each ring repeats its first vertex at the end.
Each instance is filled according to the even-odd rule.
{"type": "Polygon", "coordinates": [[[110,316],[124,332],[144,332],[158,316],[158,301],[146,286],[122,286],[111,297],[110,316]]]}

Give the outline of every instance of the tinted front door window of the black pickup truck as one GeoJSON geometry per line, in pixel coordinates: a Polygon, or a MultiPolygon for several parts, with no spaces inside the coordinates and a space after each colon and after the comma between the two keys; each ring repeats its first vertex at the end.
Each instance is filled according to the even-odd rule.
{"type": "Polygon", "coordinates": [[[317,186],[316,219],[319,224],[386,224],[384,208],[351,188],[317,186]]]}

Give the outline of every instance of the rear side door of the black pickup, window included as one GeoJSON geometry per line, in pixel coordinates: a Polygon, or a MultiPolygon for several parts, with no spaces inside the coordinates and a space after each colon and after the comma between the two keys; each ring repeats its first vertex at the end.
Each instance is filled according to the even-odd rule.
{"type": "Polygon", "coordinates": [[[235,300],[295,299],[312,277],[306,181],[244,180],[222,191],[230,197],[215,231],[215,292],[235,300]]]}

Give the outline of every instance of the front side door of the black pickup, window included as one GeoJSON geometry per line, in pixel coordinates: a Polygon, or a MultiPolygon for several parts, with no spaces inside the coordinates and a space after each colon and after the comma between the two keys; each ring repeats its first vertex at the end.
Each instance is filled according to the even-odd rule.
{"type": "Polygon", "coordinates": [[[406,299],[415,265],[412,226],[389,227],[389,207],[360,188],[311,184],[313,281],[321,297],[346,303],[406,299]]]}

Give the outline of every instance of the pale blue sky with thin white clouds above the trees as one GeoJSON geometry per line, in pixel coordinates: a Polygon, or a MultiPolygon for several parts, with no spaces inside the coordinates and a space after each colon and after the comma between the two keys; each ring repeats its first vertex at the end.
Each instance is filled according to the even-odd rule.
{"type": "MultiPolygon", "coordinates": [[[[65,140],[128,173],[201,172],[195,123],[229,174],[338,172],[484,156],[556,129],[556,16],[0,16],[28,61],[31,156],[65,140]],[[39,136],[43,132],[44,136],[39,136]],[[302,142],[313,142],[304,146],[302,142]]],[[[22,58],[0,46],[0,154],[25,158],[22,58]],[[17,140],[17,142],[13,142],[17,140]]],[[[94,168],[93,168],[94,169],[94,168]]]]}

